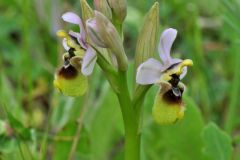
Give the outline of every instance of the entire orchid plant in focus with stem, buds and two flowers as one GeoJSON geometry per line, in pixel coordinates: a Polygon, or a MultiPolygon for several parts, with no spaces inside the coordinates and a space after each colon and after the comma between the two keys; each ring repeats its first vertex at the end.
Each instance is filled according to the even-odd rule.
{"type": "Polygon", "coordinates": [[[59,30],[62,38],[63,66],[55,74],[55,87],[66,96],[82,96],[88,91],[88,76],[97,63],[116,93],[124,121],[125,160],[140,159],[142,107],[152,84],[159,86],[152,108],[155,122],[174,124],[184,116],[182,96],[185,85],[181,82],[192,66],[190,59],[172,58],[170,50],[177,30],[163,31],[157,48],[159,5],[156,2],[145,17],[135,54],[135,82],[131,95],[128,89],[128,58],[123,46],[123,22],[127,14],[126,0],[94,0],[95,11],[86,0],[80,0],[82,18],[73,12],[62,15],[65,22],[78,25],[77,32],[59,30]]]}

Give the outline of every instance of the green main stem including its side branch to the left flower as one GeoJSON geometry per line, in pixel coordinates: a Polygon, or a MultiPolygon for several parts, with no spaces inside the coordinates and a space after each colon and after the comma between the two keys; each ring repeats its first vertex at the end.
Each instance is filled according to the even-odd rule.
{"type": "Polygon", "coordinates": [[[97,63],[104,71],[111,87],[117,94],[125,130],[125,160],[140,160],[140,132],[139,122],[141,114],[136,112],[134,104],[139,104],[131,100],[127,85],[126,71],[118,72],[109,64],[99,51],[97,63]]]}

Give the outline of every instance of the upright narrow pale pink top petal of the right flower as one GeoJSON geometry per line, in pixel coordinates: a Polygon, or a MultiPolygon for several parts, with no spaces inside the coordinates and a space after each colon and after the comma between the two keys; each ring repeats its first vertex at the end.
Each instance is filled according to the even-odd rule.
{"type": "Polygon", "coordinates": [[[176,36],[177,30],[173,28],[166,29],[161,35],[158,50],[159,56],[164,64],[170,63],[171,61],[170,51],[176,36]]]}

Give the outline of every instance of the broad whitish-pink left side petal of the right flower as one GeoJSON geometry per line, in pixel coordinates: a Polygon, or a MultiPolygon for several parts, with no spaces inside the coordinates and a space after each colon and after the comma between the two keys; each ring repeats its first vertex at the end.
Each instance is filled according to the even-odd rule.
{"type": "Polygon", "coordinates": [[[138,84],[154,84],[161,77],[162,64],[150,58],[137,69],[136,81],[138,84]]]}

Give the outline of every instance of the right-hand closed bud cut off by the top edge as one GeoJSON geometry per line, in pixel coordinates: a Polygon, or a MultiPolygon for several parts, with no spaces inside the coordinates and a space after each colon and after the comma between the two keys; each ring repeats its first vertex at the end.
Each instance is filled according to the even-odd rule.
{"type": "Polygon", "coordinates": [[[122,23],[127,15],[126,0],[108,0],[108,4],[113,12],[113,18],[122,23]]]}

